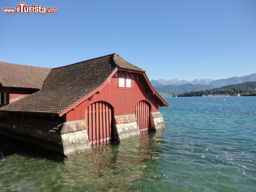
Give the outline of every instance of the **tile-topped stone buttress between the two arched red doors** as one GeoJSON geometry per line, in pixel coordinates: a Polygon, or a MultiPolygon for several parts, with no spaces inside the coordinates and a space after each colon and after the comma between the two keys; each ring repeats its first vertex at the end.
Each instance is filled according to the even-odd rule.
{"type": "Polygon", "coordinates": [[[140,134],[135,114],[115,116],[115,140],[123,140],[140,134]]]}

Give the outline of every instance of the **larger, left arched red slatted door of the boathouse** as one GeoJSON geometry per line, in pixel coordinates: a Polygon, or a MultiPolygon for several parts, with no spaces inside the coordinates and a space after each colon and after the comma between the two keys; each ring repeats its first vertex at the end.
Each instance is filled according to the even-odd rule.
{"type": "Polygon", "coordinates": [[[92,103],[85,110],[88,137],[91,145],[111,139],[113,107],[105,101],[92,103]]]}

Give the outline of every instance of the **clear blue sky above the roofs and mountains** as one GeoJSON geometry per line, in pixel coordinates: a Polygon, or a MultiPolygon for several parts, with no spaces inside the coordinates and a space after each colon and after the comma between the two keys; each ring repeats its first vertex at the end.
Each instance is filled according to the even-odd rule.
{"type": "Polygon", "coordinates": [[[256,73],[256,0],[27,0],[57,14],[4,14],[0,61],[54,68],[119,53],[149,79],[256,73]]]}

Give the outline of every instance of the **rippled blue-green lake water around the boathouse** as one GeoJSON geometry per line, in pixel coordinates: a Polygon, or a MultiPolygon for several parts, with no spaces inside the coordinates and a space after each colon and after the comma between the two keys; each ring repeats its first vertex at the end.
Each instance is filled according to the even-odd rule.
{"type": "Polygon", "coordinates": [[[166,128],[64,158],[0,135],[0,191],[256,191],[256,97],[165,98],[166,128]]]}

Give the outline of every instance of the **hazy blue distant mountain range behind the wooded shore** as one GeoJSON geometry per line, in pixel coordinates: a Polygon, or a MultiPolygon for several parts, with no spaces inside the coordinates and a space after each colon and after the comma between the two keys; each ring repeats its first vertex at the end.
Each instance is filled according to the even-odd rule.
{"type": "Polygon", "coordinates": [[[180,94],[190,91],[202,91],[213,88],[220,88],[222,86],[227,86],[231,84],[240,84],[248,81],[256,81],[256,73],[241,76],[241,77],[231,77],[228,79],[194,79],[194,81],[186,81],[178,79],[158,79],[152,80],[151,84],[160,94],[172,95],[173,93],[180,94]]]}

